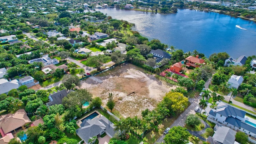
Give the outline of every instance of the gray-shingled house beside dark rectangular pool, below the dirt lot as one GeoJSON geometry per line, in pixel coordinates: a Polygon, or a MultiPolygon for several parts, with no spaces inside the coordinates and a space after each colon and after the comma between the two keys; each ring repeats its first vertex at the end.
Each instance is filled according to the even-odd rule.
{"type": "Polygon", "coordinates": [[[112,138],[115,134],[114,124],[110,122],[105,116],[100,115],[100,117],[95,117],[92,120],[84,120],[80,124],[80,128],[76,130],[76,134],[84,140],[86,144],[93,136],[100,136],[104,132],[112,138]]]}

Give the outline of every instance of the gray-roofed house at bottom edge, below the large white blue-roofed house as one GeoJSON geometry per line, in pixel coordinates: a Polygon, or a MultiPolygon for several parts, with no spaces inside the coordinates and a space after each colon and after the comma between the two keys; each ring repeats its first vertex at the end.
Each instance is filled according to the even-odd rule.
{"type": "Polygon", "coordinates": [[[234,144],[235,135],[236,131],[217,123],[214,126],[214,135],[209,136],[207,142],[210,144],[234,144]]]}

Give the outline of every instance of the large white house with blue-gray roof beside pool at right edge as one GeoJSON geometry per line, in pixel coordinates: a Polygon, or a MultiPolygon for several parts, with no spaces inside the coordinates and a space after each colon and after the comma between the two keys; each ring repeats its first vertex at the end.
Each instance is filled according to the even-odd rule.
{"type": "Polygon", "coordinates": [[[245,118],[245,111],[234,108],[224,102],[216,102],[216,104],[217,106],[208,112],[207,120],[256,138],[256,124],[245,118]]]}

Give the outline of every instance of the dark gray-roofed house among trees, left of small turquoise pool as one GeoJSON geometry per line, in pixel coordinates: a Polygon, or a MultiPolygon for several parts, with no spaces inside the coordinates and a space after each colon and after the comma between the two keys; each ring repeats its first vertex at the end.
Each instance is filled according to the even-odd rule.
{"type": "Polygon", "coordinates": [[[50,102],[46,103],[47,106],[53,106],[54,104],[62,104],[62,98],[68,95],[66,90],[60,90],[54,94],[48,96],[50,102]]]}

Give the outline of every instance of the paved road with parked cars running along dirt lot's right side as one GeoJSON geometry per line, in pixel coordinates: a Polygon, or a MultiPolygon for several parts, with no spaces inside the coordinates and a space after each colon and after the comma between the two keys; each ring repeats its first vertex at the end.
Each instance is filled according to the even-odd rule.
{"type": "MultiPolygon", "coordinates": [[[[177,120],[174,121],[174,123],[169,128],[172,128],[174,126],[182,126],[182,127],[184,127],[185,120],[186,120],[187,116],[189,114],[196,114],[196,112],[194,111],[194,108],[196,108],[196,106],[199,103],[199,99],[201,99],[201,98],[202,98],[201,96],[199,96],[196,99],[191,98],[189,100],[190,106],[178,117],[177,120]]],[[[164,142],[164,137],[165,137],[165,134],[162,134],[162,136],[160,136],[160,138],[158,138],[158,140],[156,140],[156,142],[160,142],[160,143],[164,142]]],[[[154,144],[156,144],[156,142],[154,144]]]]}

